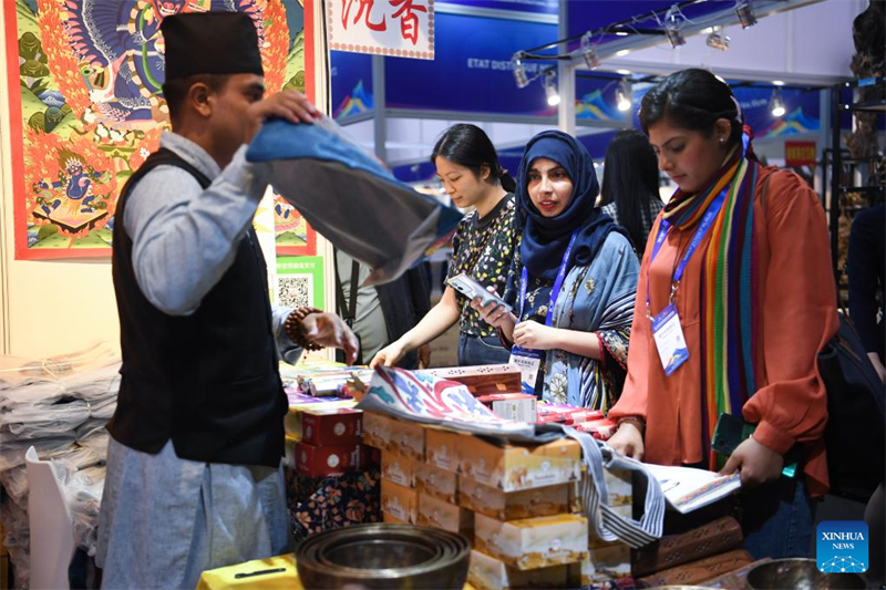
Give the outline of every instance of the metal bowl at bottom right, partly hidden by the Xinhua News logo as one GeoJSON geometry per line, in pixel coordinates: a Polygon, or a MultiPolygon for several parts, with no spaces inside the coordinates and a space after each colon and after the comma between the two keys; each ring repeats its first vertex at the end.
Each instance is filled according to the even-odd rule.
{"type": "Polygon", "coordinates": [[[867,588],[858,573],[826,573],[818,571],[814,559],[775,559],[755,567],[748,573],[748,588],[767,590],[831,590],[867,588]]]}

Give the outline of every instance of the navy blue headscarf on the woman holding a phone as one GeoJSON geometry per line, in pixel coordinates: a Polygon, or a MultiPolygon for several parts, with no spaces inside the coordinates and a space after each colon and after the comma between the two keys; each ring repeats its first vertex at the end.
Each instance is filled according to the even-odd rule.
{"type": "Polygon", "coordinates": [[[559,131],[545,131],[529,139],[517,176],[517,222],[523,227],[521,257],[532,276],[552,281],[556,278],[576,229],[578,235],[567,268],[589,265],[610,231],[627,236],[611,217],[595,206],[599,192],[594,161],[575,137],[559,131]],[[556,162],[573,182],[573,198],[556,217],[542,215],[529,198],[528,174],[537,158],[556,162]]]}

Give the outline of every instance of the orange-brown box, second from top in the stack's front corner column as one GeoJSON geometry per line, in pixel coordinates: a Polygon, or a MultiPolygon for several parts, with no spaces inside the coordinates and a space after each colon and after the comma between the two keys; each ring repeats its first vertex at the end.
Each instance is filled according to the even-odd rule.
{"type": "Polygon", "coordinates": [[[459,505],[498,520],[518,520],[570,513],[573,484],[502,491],[468,477],[459,480],[459,505]]]}

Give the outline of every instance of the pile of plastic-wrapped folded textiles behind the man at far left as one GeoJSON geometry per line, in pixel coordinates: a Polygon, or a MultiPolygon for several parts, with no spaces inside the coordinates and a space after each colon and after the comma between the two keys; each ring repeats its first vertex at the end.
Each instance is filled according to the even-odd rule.
{"type": "Polygon", "coordinates": [[[30,578],[28,476],[24,454],[33,446],[55,463],[78,546],[95,553],[99,506],[105,478],[107,431],[120,390],[120,352],[96,344],[74,354],[0,359],[0,521],[16,569],[30,578]]]}

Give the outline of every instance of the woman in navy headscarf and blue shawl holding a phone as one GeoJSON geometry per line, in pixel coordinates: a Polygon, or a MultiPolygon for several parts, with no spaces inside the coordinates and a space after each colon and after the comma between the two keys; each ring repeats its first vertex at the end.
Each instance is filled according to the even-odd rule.
{"type": "Polygon", "coordinates": [[[558,131],[533,137],[517,178],[523,239],[504,296],[516,313],[472,306],[512,348],[525,389],[607,411],[624,383],[639,262],[624,229],[595,207],[598,193],[585,146],[558,131]]]}

